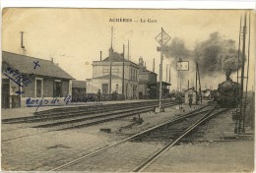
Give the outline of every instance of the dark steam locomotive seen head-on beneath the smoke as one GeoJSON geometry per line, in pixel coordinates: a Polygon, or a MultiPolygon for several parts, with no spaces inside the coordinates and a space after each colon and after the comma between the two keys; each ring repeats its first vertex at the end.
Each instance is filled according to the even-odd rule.
{"type": "Polygon", "coordinates": [[[218,87],[217,103],[224,108],[235,108],[239,101],[240,85],[227,79],[218,87]]]}

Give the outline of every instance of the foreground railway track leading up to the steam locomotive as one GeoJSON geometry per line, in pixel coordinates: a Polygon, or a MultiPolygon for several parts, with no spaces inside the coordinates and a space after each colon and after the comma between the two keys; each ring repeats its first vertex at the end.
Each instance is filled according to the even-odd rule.
{"type": "Polygon", "coordinates": [[[183,137],[187,136],[189,133],[195,130],[197,126],[226,110],[216,109],[216,107],[209,109],[208,106],[204,106],[198,110],[194,110],[190,113],[175,117],[171,120],[161,123],[158,126],[124,139],[116,144],[108,145],[90,154],[84,155],[66,164],[58,166],[51,171],[143,171],[150,164],[152,164],[165,150],[180,142],[183,137]],[[184,126],[184,128],[177,128],[181,125],[184,126]],[[177,129],[175,129],[175,126],[177,129]],[[170,133],[170,131],[173,132],[173,130],[174,133],[170,133]],[[166,138],[168,141],[167,144],[166,138]],[[156,140],[158,142],[162,142],[162,145],[160,144],[152,146],[148,144],[149,141],[154,142],[156,140]],[[147,143],[145,143],[145,141],[147,143]],[[145,147],[148,147],[149,149],[145,150],[145,147]],[[124,158],[126,158],[122,156],[126,155],[128,157],[132,157],[133,159],[122,161],[125,160],[124,158]],[[114,160],[114,165],[110,162],[111,160],[114,160]],[[111,166],[112,168],[109,168],[111,166]]]}

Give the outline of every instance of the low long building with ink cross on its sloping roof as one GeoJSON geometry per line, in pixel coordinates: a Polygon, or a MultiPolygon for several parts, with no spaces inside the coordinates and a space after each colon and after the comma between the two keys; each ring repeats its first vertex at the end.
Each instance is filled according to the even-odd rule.
{"type": "Polygon", "coordinates": [[[3,51],[2,108],[26,106],[28,98],[64,98],[72,94],[72,79],[53,61],[3,51]]]}

